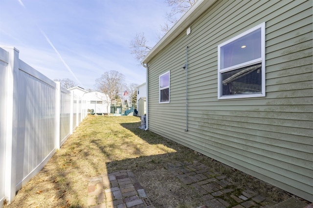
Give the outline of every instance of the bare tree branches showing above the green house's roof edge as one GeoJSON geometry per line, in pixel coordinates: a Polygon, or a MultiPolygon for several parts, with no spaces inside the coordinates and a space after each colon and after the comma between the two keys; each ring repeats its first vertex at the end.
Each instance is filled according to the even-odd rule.
{"type": "MultiPolygon", "coordinates": [[[[171,12],[166,13],[165,17],[167,22],[161,25],[161,31],[157,34],[157,38],[161,39],[177,22],[186,11],[196,2],[197,0],[165,0],[168,6],[171,7],[171,12]]],[[[138,61],[141,61],[153,48],[147,45],[148,41],[144,36],[144,33],[137,33],[133,40],[131,40],[130,48],[131,54],[138,61]]]]}

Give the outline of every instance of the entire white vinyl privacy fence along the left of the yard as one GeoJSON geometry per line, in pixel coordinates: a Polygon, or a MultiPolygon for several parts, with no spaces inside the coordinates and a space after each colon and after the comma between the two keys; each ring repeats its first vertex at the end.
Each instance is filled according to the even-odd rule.
{"type": "Polygon", "coordinates": [[[0,48],[0,208],[86,117],[86,101],[0,48]]]}

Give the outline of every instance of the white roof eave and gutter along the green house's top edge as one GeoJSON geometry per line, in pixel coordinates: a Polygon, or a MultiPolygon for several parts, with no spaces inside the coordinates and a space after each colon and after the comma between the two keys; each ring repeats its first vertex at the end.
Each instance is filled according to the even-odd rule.
{"type": "Polygon", "coordinates": [[[217,0],[197,0],[189,10],[174,24],[174,26],[161,38],[149,53],[141,60],[147,64],[165,46],[179,36],[195,19],[207,10],[217,0]]]}

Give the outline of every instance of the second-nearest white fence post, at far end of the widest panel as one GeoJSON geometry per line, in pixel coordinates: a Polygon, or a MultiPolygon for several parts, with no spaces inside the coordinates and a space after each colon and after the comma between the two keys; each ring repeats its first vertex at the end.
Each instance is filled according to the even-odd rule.
{"type": "Polygon", "coordinates": [[[61,83],[55,83],[55,148],[60,149],[61,83]]]}

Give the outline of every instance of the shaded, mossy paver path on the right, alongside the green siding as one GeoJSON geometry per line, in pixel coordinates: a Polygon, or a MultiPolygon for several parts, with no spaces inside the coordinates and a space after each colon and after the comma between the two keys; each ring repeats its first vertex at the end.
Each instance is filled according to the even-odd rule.
{"type": "Polygon", "coordinates": [[[269,208],[275,203],[251,190],[240,190],[219,172],[194,161],[168,164],[166,169],[202,195],[201,208],[269,208]]]}

